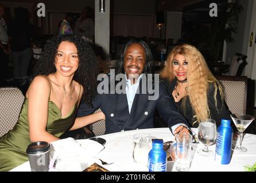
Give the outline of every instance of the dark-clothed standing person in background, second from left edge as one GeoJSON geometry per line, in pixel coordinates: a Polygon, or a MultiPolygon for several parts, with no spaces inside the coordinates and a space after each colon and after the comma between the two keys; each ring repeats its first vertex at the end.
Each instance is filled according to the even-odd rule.
{"type": "Polygon", "coordinates": [[[32,58],[33,25],[29,22],[29,11],[24,7],[15,10],[16,19],[9,28],[11,56],[14,63],[14,78],[27,77],[32,58]]]}

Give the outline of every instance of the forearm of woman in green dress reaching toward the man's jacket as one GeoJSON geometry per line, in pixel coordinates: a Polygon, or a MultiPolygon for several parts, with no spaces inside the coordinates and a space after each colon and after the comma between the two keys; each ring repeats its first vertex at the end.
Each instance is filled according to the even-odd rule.
{"type": "Polygon", "coordinates": [[[90,125],[99,120],[105,120],[105,115],[103,112],[99,112],[99,113],[95,113],[95,114],[91,114],[83,117],[77,117],[75,120],[75,124],[69,130],[76,130],[84,126],[90,125]]]}

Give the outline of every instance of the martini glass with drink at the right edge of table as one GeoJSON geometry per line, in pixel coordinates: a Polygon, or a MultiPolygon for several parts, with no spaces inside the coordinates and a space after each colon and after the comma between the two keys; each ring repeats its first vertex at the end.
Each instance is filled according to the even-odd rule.
{"type": "Polygon", "coordinates": [[[240,143],[239,146],[235,146],[235,150],[238,152],[247,152],[247,149],[242,145],[242,138],[243,138],[243,131],[251,124],[251,122],[254,120],[254,117],[249,114],[230,114],[236,129],[238,129],[239,137],[240,137],[240,143]]]}

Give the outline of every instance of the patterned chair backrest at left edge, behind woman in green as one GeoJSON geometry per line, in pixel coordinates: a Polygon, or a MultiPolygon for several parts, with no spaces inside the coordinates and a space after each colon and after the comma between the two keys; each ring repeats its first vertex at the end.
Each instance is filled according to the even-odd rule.
{"type": "Polygon", "coordinates": [[[16,87],[0,88],[0,137],[13,129],[18,120],[24,96],[16,87]]]}

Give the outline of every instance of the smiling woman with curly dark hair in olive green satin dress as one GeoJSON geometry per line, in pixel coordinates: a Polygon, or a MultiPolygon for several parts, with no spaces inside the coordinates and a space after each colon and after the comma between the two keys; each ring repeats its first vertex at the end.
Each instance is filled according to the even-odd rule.
{"type": "Polygon", "coordinates": [[[96,61],[91,47],[72,36],[45,45],[13,130],[0,138],[0,171],[28,161],[31,142],[59,140],[66,130],[104,119],[103,113],[76,117],[80,100],[91,105],[96,94],[96,61]]]}

